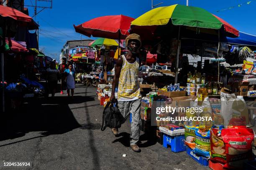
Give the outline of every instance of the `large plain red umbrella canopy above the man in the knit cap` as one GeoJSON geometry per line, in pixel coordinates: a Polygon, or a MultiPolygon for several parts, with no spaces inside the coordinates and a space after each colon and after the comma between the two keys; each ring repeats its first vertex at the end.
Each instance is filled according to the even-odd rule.
{"type": "Polygon", "coordinates": [[[75,26],[76,32],[88,37],[102,37],[110,39],[125,39],[129,35],[131,22],[134,18],[125,15],[109,15],[94,18],[75,26]]]}

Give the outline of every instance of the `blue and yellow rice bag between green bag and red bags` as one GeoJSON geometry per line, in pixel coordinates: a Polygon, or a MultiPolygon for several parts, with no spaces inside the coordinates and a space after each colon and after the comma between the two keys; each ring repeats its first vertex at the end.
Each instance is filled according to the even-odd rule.
{"type": "Polygon", "coordinates": [[[195,154],[210,158],[210,130],[202,132],[195,128],[195,154]]]}

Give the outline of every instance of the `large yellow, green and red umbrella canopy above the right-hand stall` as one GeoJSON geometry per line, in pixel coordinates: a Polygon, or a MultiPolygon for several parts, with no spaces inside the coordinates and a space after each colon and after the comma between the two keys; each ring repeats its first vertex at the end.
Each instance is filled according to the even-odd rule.
{"type": "Polygon", "coordinates": [[[158,7],[144,13],[131,22],[131,29],[139,26],[184,25],[188,27],[220,30],[222,27],[228,35],[239,36],[239,31],[223,19],[209,13],[200,7],[171,5],[158,7]]]}

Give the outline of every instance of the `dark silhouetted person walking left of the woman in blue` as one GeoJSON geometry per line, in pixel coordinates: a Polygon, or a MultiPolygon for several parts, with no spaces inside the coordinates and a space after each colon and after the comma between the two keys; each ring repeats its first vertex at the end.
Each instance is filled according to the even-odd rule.
{"type": "Polygon", "coordinates": [[[48,87],[49,87],[49,91],[51,92],[51,98],[54,98],[60,72],[59,70],[56,69],[55,62],[51,62],[50,67],[47,68],[46,71],[47,71],[48,87]]]}

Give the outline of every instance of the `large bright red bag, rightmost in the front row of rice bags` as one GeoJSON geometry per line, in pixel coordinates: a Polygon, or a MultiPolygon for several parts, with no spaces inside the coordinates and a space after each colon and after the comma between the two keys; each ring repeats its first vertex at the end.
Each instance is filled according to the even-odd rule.
{"type": "Polygon", "coordinates": [[[249,128],[228,128],[221,131],[225,143],[226,163],[223,168],[242,169],[243,163],[253,160],[254,133],[249,128]]]}

